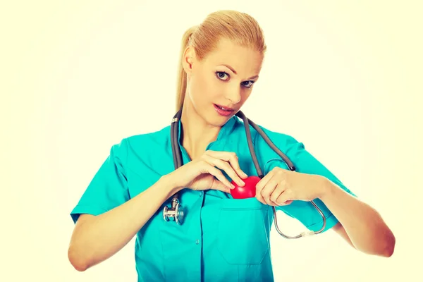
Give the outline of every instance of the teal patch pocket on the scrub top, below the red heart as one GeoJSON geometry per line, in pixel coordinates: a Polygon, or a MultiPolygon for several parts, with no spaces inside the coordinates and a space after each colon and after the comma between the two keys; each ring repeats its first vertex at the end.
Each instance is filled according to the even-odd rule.
{"type": "Polygon", "coordinates": [[[256,198],[222,200],[216,247],[228,264],[261,264],[269,255],[268,212],[256,198]]]}

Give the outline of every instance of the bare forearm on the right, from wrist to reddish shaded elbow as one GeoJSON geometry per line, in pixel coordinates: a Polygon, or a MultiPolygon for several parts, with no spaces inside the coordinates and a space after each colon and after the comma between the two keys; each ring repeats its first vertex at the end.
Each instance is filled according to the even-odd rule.
{"type": "Polygon", "coordinates": [[[341,222],[355,248],[367,254],[390,257],[396,239],[381,215],[330,180],[324,178],[323,183],[325,192],[320,199],[341,222]]]}

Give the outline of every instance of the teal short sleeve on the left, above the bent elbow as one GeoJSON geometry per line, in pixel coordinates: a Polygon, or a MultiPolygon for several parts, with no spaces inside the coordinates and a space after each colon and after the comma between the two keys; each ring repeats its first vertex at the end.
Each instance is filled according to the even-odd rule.
{"type": "Polygon", "coordinates": [[[71,212],[74,223],[80,214],[97,216],[129,200],[128,181],[125,173],[127,152],[125,139],[111,147],[109,156],[95,173],[78,204],[71,212]]]}

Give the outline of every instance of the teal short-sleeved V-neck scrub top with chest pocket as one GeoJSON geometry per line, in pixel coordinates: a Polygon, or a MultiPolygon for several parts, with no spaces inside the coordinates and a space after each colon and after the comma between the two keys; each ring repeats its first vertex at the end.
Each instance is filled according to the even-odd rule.
{"type": "MultiPolygon", "coordinates": [[[[301,142],[259,126],[298,172],[325,176],[353,195],[307,152],[301,142]]],[[[168,125],[154,133],[126,137],[113,145],[109,157],[71,212],[74,223],[80,214],[99,215],[118,207],[173,171],[170,129],[168,125]]],[[[250,130],[262,171],[268,173],[276,166],[289,169],[257,131],[251,126],[250,130]]],[[[190,159],[181,142],[179,145],[186,164],[190,159]]],[[[207,149],[235,152],[243,171],[249,176],[257,176],[244,123],[237,116],[223,125],[216,141],[207,149]]],[[[164,221],[163,208],[170,205],[170,200],[164,202],[137,232],[135,268],[138,281],[274,281],[269,244],[274,222],[271,206],[256,198],[235,200],[230,194],[217,190],[184,189],[180,202],[185,207],[185,220],[179,226],[175,221],[164,221]]],[[[338,220],[320,200],[315,203],[326,216],[327,231],[338,220]]],[[[323,223],[321,215],[309,202],[294,201],[277,210],[297,219],[311,231],[318,231],[323,223]]],[[[290,233],[283,230],[283,226],[279,227],[290,233]]]]}

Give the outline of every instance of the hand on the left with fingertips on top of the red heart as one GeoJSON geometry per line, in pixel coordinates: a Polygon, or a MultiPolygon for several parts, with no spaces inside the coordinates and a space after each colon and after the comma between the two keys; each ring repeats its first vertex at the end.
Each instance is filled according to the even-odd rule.
{"type": "Polygon", "coordinates": [[[218,168],[225,171],[238,185],[245,185],[243,179],[247,178],[247,174],[241,170],[238,157],[233,152],[207,150],[199,158],[180,166],[168,176],[171,176],[172,183],[177,188],[214,189],[229,193],[234,187],[218,168]]]}

